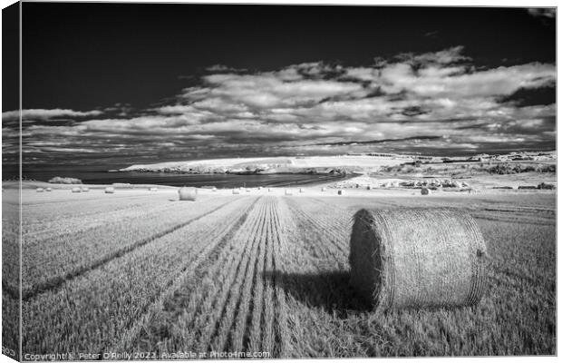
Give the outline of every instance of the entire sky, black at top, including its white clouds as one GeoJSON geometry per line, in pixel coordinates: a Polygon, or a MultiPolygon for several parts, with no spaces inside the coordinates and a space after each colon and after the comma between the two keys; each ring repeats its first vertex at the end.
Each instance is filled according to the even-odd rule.
{"type": "Polygon", "coordinates": [[[555,145],[552,10],[24,3],[23,19],[29,162],[555,145]]]}

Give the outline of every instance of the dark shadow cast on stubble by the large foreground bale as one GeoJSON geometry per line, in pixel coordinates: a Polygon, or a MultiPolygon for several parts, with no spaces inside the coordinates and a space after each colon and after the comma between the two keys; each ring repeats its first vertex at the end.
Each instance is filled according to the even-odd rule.
{"type": "Polygon", "coordinates": [[[349,314],[370,311],[372,305],[357,295],[350,286],[349,271],[333,270],[319,273],[286,273],[264,271],[264,279],[279,285],[286,295],[307,306],[325,309],[344,319],[349,314]]]}

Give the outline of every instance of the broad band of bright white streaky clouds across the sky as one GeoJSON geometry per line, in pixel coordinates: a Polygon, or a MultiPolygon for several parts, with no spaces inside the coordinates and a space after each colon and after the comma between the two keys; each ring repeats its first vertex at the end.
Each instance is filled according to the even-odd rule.
{"type": "Polygon", "coordinates": [[[314,62],[255,73],[214,65],[175,103],[135,116],[129,108],[111,117],[24,110],[29,119],[75,121],[25,124],[24,145],[43,153],[74,147],[139,158],[554,146],[556,104],[551,98],[524,103],[520,97],[530,94],[521,90],[552,88],[555,65],[482,69],[463,52],[457,46],[362,66],[314,62]]]}

